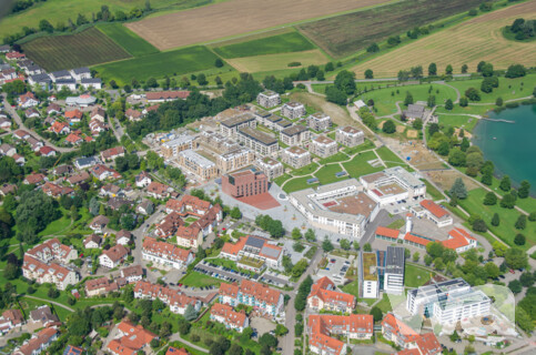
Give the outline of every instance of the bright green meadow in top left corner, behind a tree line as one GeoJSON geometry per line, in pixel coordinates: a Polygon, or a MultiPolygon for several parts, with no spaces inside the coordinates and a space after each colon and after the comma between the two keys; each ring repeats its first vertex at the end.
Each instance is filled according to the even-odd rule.
{"type": "MultiPolygon", "coordinates": [[[[151,0],[151,8],[163,9],[189,9],[208,3],[224,0],[151,0]]],[[[108,6],[110,12],[118,10],[129,12],[133,8],[143,9],[145,0],[48,0],[40,1],[30,9],[8,16],[2,19],[0,38],[22,31],[23,27],[38,28],[39,21],[47,19],[55,27],[58,22],[67,23],[68,19],[77,20],[79,13],[91,20],[92,13],[100,11],[102,6],[108,6]]]]}

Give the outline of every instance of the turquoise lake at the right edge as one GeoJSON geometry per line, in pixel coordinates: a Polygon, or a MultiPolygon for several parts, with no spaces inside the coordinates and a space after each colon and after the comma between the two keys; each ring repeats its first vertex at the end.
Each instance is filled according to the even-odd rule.
{"type": "Polygon", "coordinates": [[[527,180],[536,194],[536,104],[491,112],[489,119],[515,123],[481,120],[473,143],[494,162],[497,174],[509,175],[515,185],[527,180]]]}

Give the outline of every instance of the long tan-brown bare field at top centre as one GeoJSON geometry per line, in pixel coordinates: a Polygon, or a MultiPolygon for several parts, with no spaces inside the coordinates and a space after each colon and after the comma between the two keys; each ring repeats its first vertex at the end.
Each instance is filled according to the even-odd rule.
{"type": "Polygon", "coordinates": [[[388,0],[229,0],[127,27],[160,50],[370,7],[388,0]]]}

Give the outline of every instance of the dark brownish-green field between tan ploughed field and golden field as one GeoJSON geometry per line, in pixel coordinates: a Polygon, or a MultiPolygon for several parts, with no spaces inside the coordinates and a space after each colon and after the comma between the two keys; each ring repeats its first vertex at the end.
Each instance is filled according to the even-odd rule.
{"type": "Polygon", "coordinates": [[[342,58],[391,36],[476,8],[481,2],[405,0],[301,24],[297,29],[330,55],[342,58]]]}

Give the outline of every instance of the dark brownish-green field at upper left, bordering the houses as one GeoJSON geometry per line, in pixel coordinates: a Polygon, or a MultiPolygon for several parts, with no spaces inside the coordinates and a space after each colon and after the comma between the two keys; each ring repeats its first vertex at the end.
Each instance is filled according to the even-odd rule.
{"type": "Polygon", "coordinates": [[[131,57],[95,28],[75,34],[38,38],[22,44],[22,50],[47,71],[89,67],[131,57]]]}

